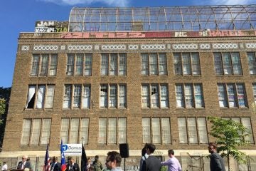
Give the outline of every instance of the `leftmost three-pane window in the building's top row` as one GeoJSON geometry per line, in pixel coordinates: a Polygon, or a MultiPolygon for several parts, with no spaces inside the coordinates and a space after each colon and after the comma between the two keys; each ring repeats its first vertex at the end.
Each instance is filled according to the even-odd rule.
{"type": "Polygon", "coordinates": [[[58,54],[33,54],[31,76],[56,76],[58,54]]]}

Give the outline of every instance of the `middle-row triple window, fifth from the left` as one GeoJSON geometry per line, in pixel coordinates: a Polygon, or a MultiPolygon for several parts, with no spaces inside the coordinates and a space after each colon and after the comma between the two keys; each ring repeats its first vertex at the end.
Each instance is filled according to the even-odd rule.
{"type": "Polygon", "coordinates": [[[203,108],[203,88],[201,83],[176,84],[177,108],[203,108]]]}

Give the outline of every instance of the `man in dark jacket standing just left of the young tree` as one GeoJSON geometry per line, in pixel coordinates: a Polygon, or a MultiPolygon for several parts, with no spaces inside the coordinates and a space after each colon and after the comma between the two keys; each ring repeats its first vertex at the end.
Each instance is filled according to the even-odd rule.
{"type": "Polygon", "coordinates": [[[225,171],[223,157],[218,154],[215,142],[208,144],[208,151],[210,152],[210,171],[225,171]]]}

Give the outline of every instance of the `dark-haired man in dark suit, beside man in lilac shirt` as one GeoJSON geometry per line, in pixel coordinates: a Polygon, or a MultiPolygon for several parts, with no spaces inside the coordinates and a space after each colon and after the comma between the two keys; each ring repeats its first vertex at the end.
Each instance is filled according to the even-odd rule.
{"type": "Polygon", "coordinates": [[[145,160],[144,165],[142,165],[142,171],[159,171],[161,161],[153,155],[156,146],[154,144],[146,144],[145,148],[149,157],[145,160]]]}

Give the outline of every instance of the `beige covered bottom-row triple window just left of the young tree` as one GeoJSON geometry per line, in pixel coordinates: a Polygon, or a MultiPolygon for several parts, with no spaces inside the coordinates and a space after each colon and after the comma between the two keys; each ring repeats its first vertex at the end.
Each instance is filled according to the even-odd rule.
{"type": "Polygon", "coordinates": [[[178,118],[178,135],[181,144],[207,144],[206,118],[178,118]]]}

